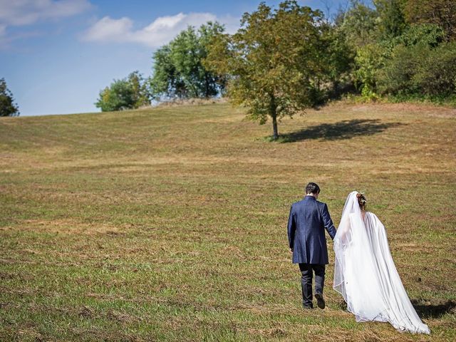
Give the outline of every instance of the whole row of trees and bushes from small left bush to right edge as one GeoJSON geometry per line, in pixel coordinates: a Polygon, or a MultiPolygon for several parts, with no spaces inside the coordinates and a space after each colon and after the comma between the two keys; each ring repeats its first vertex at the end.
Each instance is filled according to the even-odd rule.
{"type": "Polygon", "coordinates": [[[346,94],[456,103],[456,1],[352,0],[332,18],[261,2],[240,24],[188,27],[155,51],[152,77],[115,81],[98,107],[227,95],[252,120],[271,119],[275,140],[280,118],[346,94]]]}

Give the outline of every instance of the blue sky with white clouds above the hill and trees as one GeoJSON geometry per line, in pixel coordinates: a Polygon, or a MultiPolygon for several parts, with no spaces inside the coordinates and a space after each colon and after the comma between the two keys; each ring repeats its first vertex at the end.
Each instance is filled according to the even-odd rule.
{"type": "MultiPolygon", "coordinates": [[[[280,1],[265,1],[277,6],[280,1]]],[[[304,0],[325,14],[348,0],[304,0]]],[[[0,0],[0,78],[21,116],[98,112],[100,90],[133,71],[188,25],[239,28],[252,0],[0,0]]]]}

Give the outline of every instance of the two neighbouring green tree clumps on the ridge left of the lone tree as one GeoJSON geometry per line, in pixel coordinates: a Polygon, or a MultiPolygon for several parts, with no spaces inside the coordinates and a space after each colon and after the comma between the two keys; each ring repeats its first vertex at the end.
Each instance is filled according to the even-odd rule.
{"type": "Polygon", "coordinates": [[[151,100],[211,98],[224,93],[226,76],[203,66],[212,39],[224,27],[208,22],[199,28],[189,26],[170,43],[153,54],[153,76],[143,78],[138,71],[114,80],[100,91],[95,105],[102,111],[140,108],[151,100]]]}

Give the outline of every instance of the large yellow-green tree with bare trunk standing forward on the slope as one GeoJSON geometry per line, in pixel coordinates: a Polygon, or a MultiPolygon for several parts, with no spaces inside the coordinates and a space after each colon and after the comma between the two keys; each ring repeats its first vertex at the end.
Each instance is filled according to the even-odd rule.
{"type": "Polygon", "coordinates": [[[322,24],[320,11],[296,1],[284,1],[274,11],[261,2],[242,16],[237,33],[212,41],[206,65],[229,75],[229,98],[247,107],[249,118],[260,124],[271,118],[274,140],[278,119],[316,102],[322,24]]]}

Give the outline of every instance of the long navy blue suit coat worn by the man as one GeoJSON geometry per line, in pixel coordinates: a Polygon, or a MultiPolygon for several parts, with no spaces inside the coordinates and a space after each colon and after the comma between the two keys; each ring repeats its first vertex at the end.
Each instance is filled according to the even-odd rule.
{"type": "Polygon", "coordinates": [[[288,240],[294,264],[328,264],[324,229],[334,239],[336,227],[325,203],[318,202],[314,196],[306,196],[291,205],[288,240]]]}

